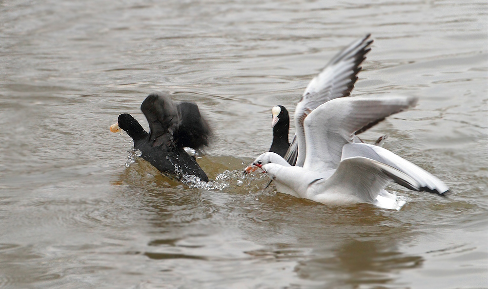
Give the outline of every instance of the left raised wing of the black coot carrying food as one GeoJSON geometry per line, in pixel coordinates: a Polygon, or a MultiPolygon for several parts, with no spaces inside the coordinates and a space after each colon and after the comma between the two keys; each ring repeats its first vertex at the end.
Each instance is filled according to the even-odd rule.
{"type": "Polygon", "coordinates": [[[178,110],[168,94],[151,93],[142,102],[142,113],[149,123],[149,144],[170,145],[178,126],[178,110]]]}

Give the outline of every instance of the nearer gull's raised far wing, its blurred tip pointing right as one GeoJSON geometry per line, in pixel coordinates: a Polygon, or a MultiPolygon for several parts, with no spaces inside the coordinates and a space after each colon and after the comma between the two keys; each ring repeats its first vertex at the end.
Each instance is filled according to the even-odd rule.
{"type": "Polygon", "coordinates": [[[416,103],[417,98],[406,96],[343,97],[326,102],[305,118],[303,167],[314,172],[337,168],[343,146],[353,142],[357,131],[416,103]]]}

